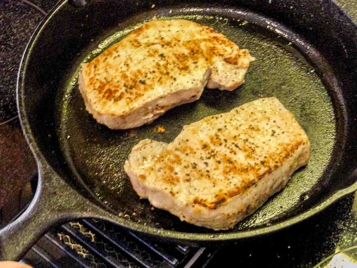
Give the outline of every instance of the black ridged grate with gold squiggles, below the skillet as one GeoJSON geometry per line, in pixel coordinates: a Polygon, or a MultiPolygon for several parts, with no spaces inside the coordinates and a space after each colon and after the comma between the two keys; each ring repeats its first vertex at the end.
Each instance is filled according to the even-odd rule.
{"type": "Polygon", "coordinates": [[[109,222],[84,219],[52,229],[23,261],[34,267],[198,268],[217,250],[152,242],[109,222]]]}

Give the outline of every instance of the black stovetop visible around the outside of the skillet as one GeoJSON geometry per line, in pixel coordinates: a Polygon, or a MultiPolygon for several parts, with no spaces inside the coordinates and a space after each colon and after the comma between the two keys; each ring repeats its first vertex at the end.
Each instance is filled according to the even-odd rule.
{"type": "MultiPolygon", "coordinates": [[[[56,0],[0,1],[0,227],[31,199],[36,164],[16,112],[16,76],[22,51],[56,0]],[[32,183],[32,184],[31,184],[32,183]]],[[[357,1],[340,0],[357,21],[357,1]]],[[[357,267],[357,195],[281,232],[235,245],[190,248],[143,241],[95,220],[54,227],[23,261],[36,267],[357,267]],[[349,250],[346,250],[349,249],[349,250]],[[344,251],[346,250],[346,251],[344,251]],[[329,264],[328,264],[329,263],[329,264]],[[233,266],[232,265],[232,266],[233,266]]]]}

